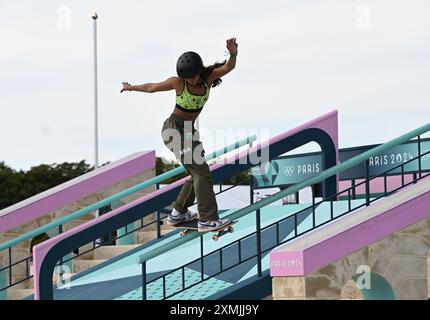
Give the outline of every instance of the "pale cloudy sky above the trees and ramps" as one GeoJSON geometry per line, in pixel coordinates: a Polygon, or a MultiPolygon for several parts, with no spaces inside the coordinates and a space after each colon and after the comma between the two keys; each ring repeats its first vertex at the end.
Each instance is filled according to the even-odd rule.
{"type": "Polygon", "coordinates": [[[100,163],[154,149],[172,158],[160,130],[174,92],[120,94],[121,82],[175,75],[188,50],[221,61],[230,37],[237,68],[200,115],[207,151],[220,146],[205,140],[217,130],[273,136],[333,109],[341,147],[381,143],[430,119],[426,0],[9,0],[0,3],[0,161],[14,169],[94,162],[95,10],[100,163]]]}

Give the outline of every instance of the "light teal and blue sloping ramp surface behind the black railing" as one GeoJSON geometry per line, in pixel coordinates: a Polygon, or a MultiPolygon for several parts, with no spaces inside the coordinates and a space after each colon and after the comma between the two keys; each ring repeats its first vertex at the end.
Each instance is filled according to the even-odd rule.
{"type": "MultiPolygon", "coordinates": [[[[352,200],[352,208],[364,203],[363,199],[352,200]]],[[[348,208],[347,201],[333,203],[334,212],[343,213],[348,208]]],[[[266,206],[261,208],[262,229],[276,221],[282,220],[294,213],[306,209],[309,204],[295,204],[283,206],[266,206]]],[[[237,209],[230,209],[221,216],[226,216],[237,209]]],[[[316,223],[320,224],[330,219],[330,203],[323,202],[316,206],[316,223]]],[[[307,209],[298,215],[299,233],[312,228],[312,210],[307,209]]],[[[241,240],[242,261],[256,254],[255,213],[244,216],[235,224],[235,231],[226,234],[218,241],[212,240],[212,233],[203,236],[204,254],[204,278],[210,279],[199,283],[185,291],[182,289],[182,271],[178,270],[166,277],[166,295],[172,295],[171,299],[206,299],[213,295],[222,296],[222,292],[231,292],[235,286],[252,281],[257,275],[256,258],[251,258],[238,266],[238,239],[241,240]],[[247,237],[248,236],[248,237],[247,237]],[[230,246],[228,246],[231,244],[230,246]],[[210,254],[210,252],[227,246],[222,251],[210,254]],[[222,262],[221,262],[222,259],[222,262]],[[223,270],[220,274],[222,263],[223,270]],[[215,275],[215,276],[213,276],[215,275]],[[179,292],[181,291],[181,292],[179,292]],[[177,294],[175,294],[178,292],[177,294]]],[[[287,240],[294,236],[293,219],[287,219],[279,225],[279,237],[287,240]]],[[[72,278],[69,283],[54,288],[54,299],[65,300],[139,300],[142,298],[141,266],[136,263],[138,257],[144,252],[157,246],[178,239],[179,232],[174,231],[160,240],[154,240],[147,245],[127,252],[119,257],[111,259],[97,267],[72,278]]],[[[261,233],[262,250],[267,250],[263,255],[263,271],[269,270],[269,248],[276,244],[275,226],[264,229],[261,233]]],[[[200,238],[189,241],[174,250],[163,253],[147,262],[147,281],[170,272],[182,265],[192,262],[200,257],[200,238]]],[[[200,261],[189,263],[185,268],[185,287],[189,287],[201,280],[200,261]]],[[[270,294],[270,293],[269,293],[270,294]]],[[[162,279],[154,281],[147,286],[147,299],[163,299],[162,279]]]]}

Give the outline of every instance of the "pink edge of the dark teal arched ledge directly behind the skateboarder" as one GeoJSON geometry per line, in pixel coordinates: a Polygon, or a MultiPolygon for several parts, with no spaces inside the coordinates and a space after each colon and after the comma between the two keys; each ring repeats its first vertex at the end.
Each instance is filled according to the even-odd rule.
{"type": "MultiPolygon", "coordinates": [[[[309,121],[301,126],[298,126],[294,129],[288,130],[284,133],[281,133],[271,139],[269,139],[269,141],[267,142],[263,142],[263,143],[259,143],[255,146],[253,146],[250,149],[247,150],[243,150],[241,152],[239,152],[238,154],[235,154],[227,159],[223,160],[223,163],[219,163],[219,164],[214,164],[210,166],[210,170],[214,171],[228,163],[234,163],[236,160],[239,160],[242,157],[246,157],[248,154],[253,153],[257,150],[260,150],[263,147],[266,147],[269,144],[273,144],[275,142],[281,141],[285,138],[288,138],[294,134],[297,134],[303,130],[306,129],[310,129],[310,128],[318,128],[321,129],[323,131],[325,131],[327,134],[329,134],[329,136],[331,137],[331,139],[333,140],[333,143],[335,144],[335,148],[336,148],[336,161],[338,161],[338,122],[337,122],[337,115],[338,112],[337,110],[331,111],[321,117],[318,117],[312,121],[309,121]]],[[[101,217],[98,217],[96,219],[93,219],[91,221],[88,221],[76,228],[73,228],[72,230],[66,231],[60,235],[57,235],[47,241],[44,241],[40,244],[38,244],[37,246],[33,247],[33,274],[34,274],[34,298],[35,300],[39,300],[39,272],[40,272],[40,267],[42,265],[43,259],[45,258],[46,254],[49,252],[49,250],[58,242],[78,233],[81,232],[82,230],[85,230],[87,228],[90,228],[91,226],[93,226],[96,223],[99,223],[101,221],[104,221],[106,219],[109,219],[113,216],[116,216],[118,214],[121,214],[123,211],[126,211],[140,203],[143,203],[145,201],[148,201],[149,199],[155,198],[157,196],[159,196],[160,194],[171,190],[173,188],[176,188],[177,186],[183,185],[185,183],[186,180],[190,179],[190,176],[184,177],[174,183],[169,184],[168,186],[156,190],[148,195],[143,196],[142,198],[136,199],[124,206],[121,206],[115,210],[110,211],[109,213],[104,214],[101,217]]]]}

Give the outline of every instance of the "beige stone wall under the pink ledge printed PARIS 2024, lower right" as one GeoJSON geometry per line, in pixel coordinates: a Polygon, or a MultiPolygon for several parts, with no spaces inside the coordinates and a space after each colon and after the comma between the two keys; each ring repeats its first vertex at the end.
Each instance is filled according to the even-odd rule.
{"type": "Polygon", "coordinates": [[[430,218],[404,228],[325,268],[300,277],[273,278],[274,299],[361,299],[353,275],[360,266],[383,276],[396,299],[430,297],[430,218]]]}

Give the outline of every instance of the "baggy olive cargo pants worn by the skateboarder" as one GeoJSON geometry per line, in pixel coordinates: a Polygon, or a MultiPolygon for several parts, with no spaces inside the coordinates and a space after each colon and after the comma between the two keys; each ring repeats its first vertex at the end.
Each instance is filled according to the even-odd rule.
{"type": "Polygon", "coordinates": [[[172,113],[164,121],[161,136],[166,147],[175,154],[191,176],[182,186],[172,207],[181,213],[187,212],[197,198],[199,220],[218,220],[212,176],[204,159],[205,151],[199,141],[199,132],[194,128],[194,121],[184,120],[172,113]]]}

